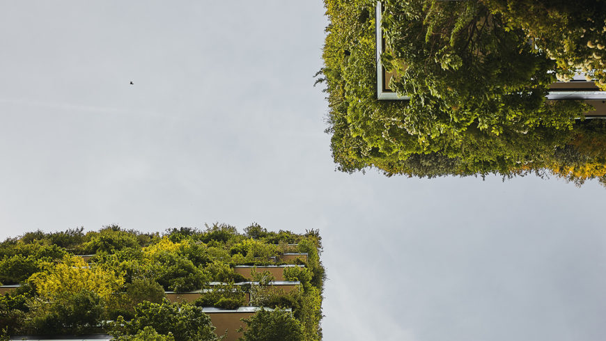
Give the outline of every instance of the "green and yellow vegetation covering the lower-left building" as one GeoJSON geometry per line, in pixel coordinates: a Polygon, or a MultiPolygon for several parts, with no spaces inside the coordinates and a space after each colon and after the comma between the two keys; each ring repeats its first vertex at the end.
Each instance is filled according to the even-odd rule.
{"type": "MultiPolygon", "coordinates": [[[[20,285],[0,296],[0,331],[5,337],[105,332],[119,340],[215,340],[220,336],[204,307],[254,304],[280,308],[250,319],[254,331],[276,327],[274,322],[264,326],[267,319],[295,319],[293,338],[320,340],[321,251],[318,230],[297,235],[269,232],[257,224],[243,233],[226,224],[162,233],[117,225],[93,232],[28,232],[0,243],[0,285],[20,285]],[[300,290],[285,293],[273,287],[270,273],[256,267],[251,268],[252,281],[233,271],[242,264],[284,264],[280,255],[290,252],[307,253],[306,261],[295,260],[304,267],[283,270],[286,280],[300,282],[300,290]],[[92,257],[87,262],[82,255],[92,257]],[[191,303],[171,303],[165,296],[194,290],[200,297],[191,303]]],[[[249,334],[243,340],[257,340],[249,334]]]]}

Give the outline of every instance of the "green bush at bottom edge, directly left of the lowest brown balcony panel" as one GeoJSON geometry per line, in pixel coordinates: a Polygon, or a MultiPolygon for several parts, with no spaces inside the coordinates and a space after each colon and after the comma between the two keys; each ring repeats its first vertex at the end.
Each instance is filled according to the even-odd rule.
{"type": "MultiPolygon", "coordinates": [[[[189,304],[143,302],[135,308],[134,319],[130,322],[117,320],[111,335],[121,337],[137,335],[145,327],[153,328],[162,335],[173,335],[174,340],[219,340],[215,327],[202,308],[189,304]]],[[[149,331],[149,330],[148,330],[149,331]]]]}

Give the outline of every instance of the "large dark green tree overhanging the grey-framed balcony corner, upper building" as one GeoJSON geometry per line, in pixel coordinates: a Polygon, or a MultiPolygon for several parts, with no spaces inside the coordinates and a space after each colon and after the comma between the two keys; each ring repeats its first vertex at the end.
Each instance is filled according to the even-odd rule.
{"type": "Polygon", "coordinates": [[[561,117],[545,101],[554,63],[485,6],[421,0],[384,6],[384,64],[394,71],[405,65],[389,85],[410,96],[392,129],[425,140],[460,139],[468,127],[498,136],[538,124],[570,126],[575,116],[561,117]]]}

